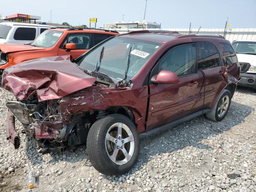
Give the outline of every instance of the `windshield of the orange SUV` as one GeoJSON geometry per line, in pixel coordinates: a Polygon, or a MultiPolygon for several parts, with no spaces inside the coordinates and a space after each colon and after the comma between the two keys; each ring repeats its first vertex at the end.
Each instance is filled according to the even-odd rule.
{"type": "Polygon", "coordinates": [[[62,36],[62,32],[54,30],[46,30],[42,32],[32,43],[31,46],[36,47],[51,47],[62,36]]]}

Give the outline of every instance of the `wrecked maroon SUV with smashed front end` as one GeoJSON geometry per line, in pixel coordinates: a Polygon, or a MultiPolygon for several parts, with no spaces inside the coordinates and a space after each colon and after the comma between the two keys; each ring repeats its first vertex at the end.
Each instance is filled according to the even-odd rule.
{"type": "Polygon", "coordinates": [[[218,35],[130,32],[112,37],[70,61],[30,60],[7,68],[6,134],[20,145],[15,118],[42,153],[86,143],[91,163],[104,174],[135,164],[144,137],[206,114],[228,112],[240,66],[230,42],[218,35]],[[227,62],[228,61],[228,62],[227,62]]]}

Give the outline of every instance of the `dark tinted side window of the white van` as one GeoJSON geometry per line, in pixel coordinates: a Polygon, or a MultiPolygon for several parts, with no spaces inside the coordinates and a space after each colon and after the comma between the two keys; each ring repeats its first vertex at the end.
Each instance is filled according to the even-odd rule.
{"type": "Polygon", "coordinates": [[[14,33],[15,40],[32,41],[36,38],[36,28],[20,27],[14,33]]]}

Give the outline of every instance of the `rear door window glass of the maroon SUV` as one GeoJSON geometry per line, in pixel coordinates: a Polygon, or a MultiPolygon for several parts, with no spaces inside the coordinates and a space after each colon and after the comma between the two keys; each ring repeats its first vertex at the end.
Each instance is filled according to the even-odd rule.
{"type": "Polygon", "coordinates": [[[219,52],[208,42],[196,44],[198,54],[198,69],[214,68],[219,66],[219,52]]]}

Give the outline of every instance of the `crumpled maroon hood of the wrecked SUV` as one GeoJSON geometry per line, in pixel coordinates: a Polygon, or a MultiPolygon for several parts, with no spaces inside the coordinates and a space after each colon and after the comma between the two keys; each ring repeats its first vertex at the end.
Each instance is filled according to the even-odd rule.
{"type": "Polygon", "coordinates": [[[2,86],[18,100],[26,100],[35,92],[38,101],[58,99],[92,86],[95,81],[95,77],[70,62],[69,55],[22,62],[6,68],[2,76],[2,86]]]}

